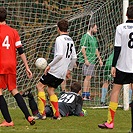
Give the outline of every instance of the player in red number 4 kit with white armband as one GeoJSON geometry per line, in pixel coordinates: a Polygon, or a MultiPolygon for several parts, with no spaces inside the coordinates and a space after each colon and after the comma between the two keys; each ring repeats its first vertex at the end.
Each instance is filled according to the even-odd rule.
{"type": "Polygon", "coordinates": [[[27,121],[33,125],[35,124],[34,118],[30,115],[22,96],[16,88],[16,49],[24,62],[28,78],[32,78],[32,72],[27,64],[19,34],[15,29],[6,24],[6,16],[6,9],[0,7],[0,110],[5,119],[0,126],[14,126],[2,88],[8,88],[27,121]]]}

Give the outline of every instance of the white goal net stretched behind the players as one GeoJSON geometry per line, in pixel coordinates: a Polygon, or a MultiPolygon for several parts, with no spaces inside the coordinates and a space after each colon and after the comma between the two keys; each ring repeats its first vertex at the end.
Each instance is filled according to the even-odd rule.
{"type": "MultiPolygon", "coordinates": [[[[28,59],[33,78],[28,79],[25,68],[18,56],[17,87],[19,91],[32,89],[37,97],[36,84],[43,71],[35,67],[35,60],[44,57],[48,63],[53,59],[53,46],[57,34],[57,21],[66,18],[70,22],[69,34],[73,38],[77,54],[81,52],[80,39],[87,32],[90,23],[96,23],[99,42],[99,51],[102,60],[109,57],[113,49],[116,26],[122,23],[122,0],[3,0],[0,2],[8,11],[7,24],[19,31],[21,41],[28,59]]],[[[84,105],[99,106],[101,99],[101,87],[104,82],[104,67],[96,62],[95,75],[91,79],[91,101],[85,101],[84,105]]],[[[72,78],[67,80],[66,88],[69,90],[73,81],[78,81],[83,86],[84,77],[81,68],[77,65],[72,78]]],[[[110,97],[111,81],[108,88],[106,101],[110,97]]],[[[56,89],[60,93],[61,87],[56,89]]],[[[14,98],[4,91],[8,105],[16,107],[14,98]]],[[[119,99],[122,103],[122,93],[119,99]]]]}

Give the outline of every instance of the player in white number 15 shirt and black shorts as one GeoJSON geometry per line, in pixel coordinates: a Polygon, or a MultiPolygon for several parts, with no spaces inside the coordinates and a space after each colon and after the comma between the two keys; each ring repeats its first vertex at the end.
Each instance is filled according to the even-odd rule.
{"type": "Polygon", "coordinates": [[[55,41],[54,59],[48,64],[44,71],[44,75],[37,84],[38,90],[38,108],[42,115],[42,119],[46,119],[44,111],[46,105],[46,97],[44,88],[47,88],[50,104],[53,109],[55,119],[60,119],[58,109],[58,98],[55,95],[55,88],[60,85],[66,76],[70,75],[74,64],[77,60],[76,50],[72,38],[68,35],[68,21],[65,19],[57,23],[57,31],[59,36],[55,41]]]}

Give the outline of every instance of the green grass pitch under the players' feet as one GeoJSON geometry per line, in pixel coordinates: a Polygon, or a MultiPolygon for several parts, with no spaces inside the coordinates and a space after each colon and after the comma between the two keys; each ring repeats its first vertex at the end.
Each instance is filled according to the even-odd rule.
{"type": "MultiPolygon", "coordinates": [[[[118,109],[114,129],[99,129],[98,124],[107,119],[107,109],[87,109],[85,117],[63,117],[62,120],[37,120],[30,126],[20,109],[10,109],[14,127],[0,127],[0,133],[128,133],[131,127],[129,111],[118,109]]],[[[0,114],[0,122],[3,117],[0,114]]]]}

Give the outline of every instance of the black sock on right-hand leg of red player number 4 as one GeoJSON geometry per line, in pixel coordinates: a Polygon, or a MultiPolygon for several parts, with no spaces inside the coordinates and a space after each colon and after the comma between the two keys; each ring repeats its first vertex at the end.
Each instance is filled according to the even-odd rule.
{"type": "Polygon", "coordinates": [[[14,95],[14,98],[16,99],[19,108],[24,113],[25,118],[28,120],[28,117],[30,116],[30,113],[29,113],[29,110],[26,106],[26,103],[25,103],[24,99],[22,98],[22,96],[19,93],[14,95]]]}

